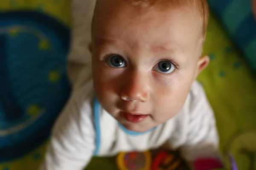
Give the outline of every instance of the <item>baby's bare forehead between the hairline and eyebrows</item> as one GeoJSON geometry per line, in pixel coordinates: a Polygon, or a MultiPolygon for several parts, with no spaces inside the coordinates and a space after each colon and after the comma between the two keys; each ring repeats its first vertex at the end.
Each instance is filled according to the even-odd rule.
{"type": "MultiPolygon", "coordinates": [[[[146,44],[149,51],[155,51],[152,47],[162,49],[177,44],[188,48],[186,51],[189,51],[192,48],[190,44],[196,45],[200,38],[199,19],[191,12],[186,12],[186,9],[154,11],[139,7],[143,8],[139,11],[136,10],[137,6],[133,7],[133,4],[125,0],[109,0],[109,2],[109,4],[99,4],[98,11],[101,14],[97,14],[95,18],[97,21],[92,37],[93,44],[99,49],[122,46],[134,50],[146,44]],[[113,4],[116,1],[120,4],[113,4]],[[117,40],[118,43],[102,43],[100,41],[102,39],[117,40]]],[[[146,51],[144,48],[140,49],[146,51]]]]}

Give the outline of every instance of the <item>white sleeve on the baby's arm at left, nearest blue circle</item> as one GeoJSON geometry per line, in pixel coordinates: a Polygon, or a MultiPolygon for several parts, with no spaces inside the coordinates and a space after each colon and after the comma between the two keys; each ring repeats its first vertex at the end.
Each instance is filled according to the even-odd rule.
{"type": "Polygon", "coordinates": [[[84,95],[81,89],[73,91],[52,130],[40,170],[82,170],[89,163],[95,150],[93,96],[84,95]]]}

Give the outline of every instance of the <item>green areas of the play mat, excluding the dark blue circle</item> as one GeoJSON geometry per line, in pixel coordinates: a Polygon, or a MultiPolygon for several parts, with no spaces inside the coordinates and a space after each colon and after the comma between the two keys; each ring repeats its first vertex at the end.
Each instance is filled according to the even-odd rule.
{"type": "MultiPolygon", "coordinates": [[[[70,26],[70,0],[2,0],[0,10],[37,10],[70,26]]],[[[215,111],[220,152],[227,160],[231,153],[239,170],[256,168],[256,77],[224,29],[211,15],[204,46],[209,67],[198,81],[203,85],[215,111]]],[[[19,159],[0,163],[0,170],[36,170],[45,143],[19,159]]],[[[227,162],[227,161],[226,161],[227,162]]],[[[116,169],[114,158],[93,158],[90,169],[116,169]],[[99,164],[100,162],[100,164],[99,164]]]]}

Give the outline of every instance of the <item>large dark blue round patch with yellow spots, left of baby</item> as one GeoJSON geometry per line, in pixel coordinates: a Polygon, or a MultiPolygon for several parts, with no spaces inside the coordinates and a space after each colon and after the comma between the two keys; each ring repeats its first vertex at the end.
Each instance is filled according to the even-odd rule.
{"type": "Polygon", "coordinates": [[[36,11],[0,13],[0,162],[34,150],[69,95],[69,30],[36,11]]]}

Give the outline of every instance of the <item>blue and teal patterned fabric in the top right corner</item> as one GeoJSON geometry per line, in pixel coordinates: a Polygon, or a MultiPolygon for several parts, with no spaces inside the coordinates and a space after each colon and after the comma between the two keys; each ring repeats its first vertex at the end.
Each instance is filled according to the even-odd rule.
{"type": "Polygon", "coordinates": [[[208,0],[208,3],[256,72],[256,21],[251,0],[208,0]]]}

